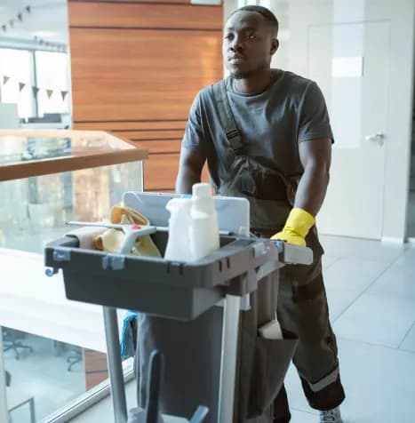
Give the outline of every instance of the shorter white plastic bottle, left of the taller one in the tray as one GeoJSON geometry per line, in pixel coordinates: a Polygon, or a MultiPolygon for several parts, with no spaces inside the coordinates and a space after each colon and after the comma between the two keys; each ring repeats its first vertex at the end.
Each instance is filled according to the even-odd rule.
{"type": "Polygon", "coordinates": [[[164,259],[189,261],[193,259],[189,245],[190,198],[172,198],[166,209],[170,211],[169,239],[164,252],[164,259]]]}

